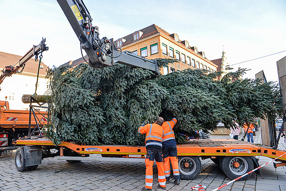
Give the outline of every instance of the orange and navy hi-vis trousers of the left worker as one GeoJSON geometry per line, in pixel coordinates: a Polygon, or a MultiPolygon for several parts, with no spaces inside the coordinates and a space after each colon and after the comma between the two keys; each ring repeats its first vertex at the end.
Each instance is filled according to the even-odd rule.
{"type": "Polygon", "coordinates": [[[153,164],[154,159],[158,169],[158,181],[162,188],[166,188],[166,178],[164,173],[163,154],[162,151],[148,150],[145,159],[146,164],[146,176],[145,176],[145,188],[152,189],[153,186],[153,164]]]}

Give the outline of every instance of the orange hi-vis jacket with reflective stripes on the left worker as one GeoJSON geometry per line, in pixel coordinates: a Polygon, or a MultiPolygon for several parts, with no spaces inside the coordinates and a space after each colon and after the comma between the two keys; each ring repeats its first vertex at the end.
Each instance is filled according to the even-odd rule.
{"type": "Polygon", "coordinates": [[[146,146],[156,145],[162,147],[162,136],[164,133],[162,126],[158,125],[157,123],[147,124],[145,126],[140,126],[138,132],[141,134],[146,133],[146,146]]]}

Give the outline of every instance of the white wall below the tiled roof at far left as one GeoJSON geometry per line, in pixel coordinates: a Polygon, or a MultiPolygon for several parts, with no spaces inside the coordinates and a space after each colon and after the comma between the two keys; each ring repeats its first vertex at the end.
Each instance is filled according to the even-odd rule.
{"type": "MultiPolygon", "coordinates": [[[[0,100],[9,102],[10,109],[28,110],[29,103],[22,102],[22,95],[35,93],[37,77],[14,74],[6,77],[0,85],[0,100]],[[7,99],[5,99],[7,96],[7,99]]],[[[37,95],[43,95],[48,88],[48,79],[39,78],[37,95]]]]}

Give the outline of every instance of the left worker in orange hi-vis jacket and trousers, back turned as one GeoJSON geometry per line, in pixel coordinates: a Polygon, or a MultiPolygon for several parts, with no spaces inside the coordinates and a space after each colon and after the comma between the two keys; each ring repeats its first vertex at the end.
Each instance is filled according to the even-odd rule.
{"type": "Polygon", "coordinates": [[[142,191],[151,191],[153,185],[153,164],[154,159],[158,168],[158,181],[159,187],[166,189],[166,177],[164,173],[163,154],[162,154],[162,136],[164,134],[162,124],[164,119],[159,117],[155,123],[147,124],[144,123],[139,127],[138,132],[141,134],[146,133],[145,144],[147,150],[147,156],[145,158],[146,164],[146,176],[145,176],[145,187],[142,191]]]}

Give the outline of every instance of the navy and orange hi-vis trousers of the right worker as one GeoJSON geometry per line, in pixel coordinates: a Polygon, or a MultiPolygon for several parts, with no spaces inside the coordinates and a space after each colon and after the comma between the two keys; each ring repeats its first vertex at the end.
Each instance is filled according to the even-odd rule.
{"type": "Polygon", "coordinates": [[[170,175],[171,175],[170,161],[171,161],[172,168],[173,168],[174,179],[180,180],[177,147],[176,146],[163,147],[163,158],[164,158],[164,169],[165,169],[166,181],[170,180],[170,175]]]}

